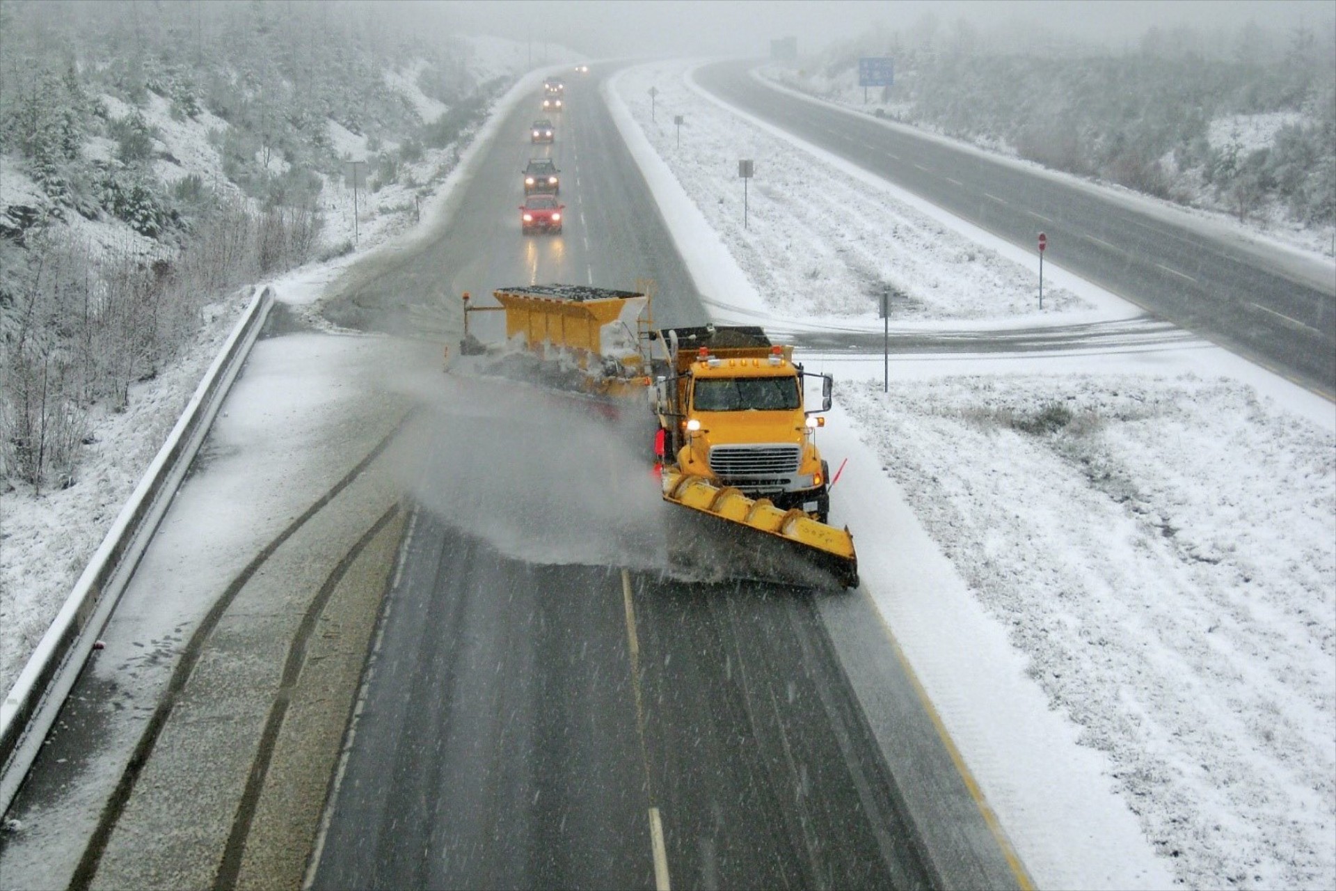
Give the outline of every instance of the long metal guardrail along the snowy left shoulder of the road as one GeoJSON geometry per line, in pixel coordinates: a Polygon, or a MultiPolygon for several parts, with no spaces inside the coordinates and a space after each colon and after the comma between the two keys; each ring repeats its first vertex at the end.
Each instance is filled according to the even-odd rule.
{"type": "Polygon", "coordinates": [[[13,803],[273,305],[273,289],[255,289],[246,314],[204,373],[176,426],[0,703],[0,814],[13,803]]]}

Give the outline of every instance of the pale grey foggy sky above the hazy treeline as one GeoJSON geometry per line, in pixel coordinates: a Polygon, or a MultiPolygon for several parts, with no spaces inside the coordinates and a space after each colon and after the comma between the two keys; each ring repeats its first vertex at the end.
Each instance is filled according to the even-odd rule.
{"type": "Polygon", "coordinates": [[[1234,29],[1249,19],[1288,31],[1336,29],[1329,0],[440,0],[452,25],[536,45],[552,40],[591,56],[764,55],[772,37],[795,35],[800,52],[854,37],[874,24],[906,29],[925,13],[942,29],[958,19],[981,32],[1045,31],[1136,45],[1152,25],[1234,29]]]}

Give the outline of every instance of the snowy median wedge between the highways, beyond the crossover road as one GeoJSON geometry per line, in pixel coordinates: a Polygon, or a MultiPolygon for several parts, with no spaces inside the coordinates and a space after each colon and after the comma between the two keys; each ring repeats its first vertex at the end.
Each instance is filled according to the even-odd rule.
{"type": "MultiPolygon", "coordinates": [[[[616,90],[771,310],[871,321],[887,293],[896,323],[1038,313],[1037,270],[728,114],[685,83],[688,67],[676,61],[633,68],[617,79],[616,90]],[[651,87],[659,91],[653,116],[645,100],[651,87]],[[684,118],[680,146],[676,115],[684,118]],[[755,170],[745,228],[737,178],[743,158],[755,170]]],[[[1090,309],[1051,286],[1043,298],[1049,317],[1090,309]]]]}

